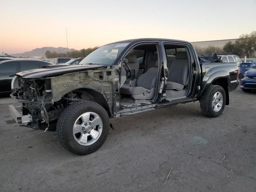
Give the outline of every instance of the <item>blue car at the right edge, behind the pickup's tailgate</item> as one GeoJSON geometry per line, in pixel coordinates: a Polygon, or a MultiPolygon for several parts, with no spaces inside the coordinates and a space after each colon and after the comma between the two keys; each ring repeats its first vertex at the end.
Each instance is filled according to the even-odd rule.
{"type": "Polygon", "coordinates": [[[244,72],[241,80],[241,89],[245,92],[256,90],[256,67],[244,72]]]}

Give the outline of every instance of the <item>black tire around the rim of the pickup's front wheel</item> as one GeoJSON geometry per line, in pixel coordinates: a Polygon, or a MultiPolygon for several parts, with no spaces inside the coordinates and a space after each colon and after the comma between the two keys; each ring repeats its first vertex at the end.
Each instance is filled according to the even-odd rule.
{"type": "Polygon", "coordinates": [[[109,117],[106,110],[98,103],[92,101],[75,102],[66,107],[57,122],[56,130],[60,144],[70,152],[77,155],[87,155],[98,150],[106,141],[109,130],[109,117]],[[102,133],[98,140],[89,145],[83,146],[76,142],[73,136],[73,126],[76,119],[85,112],[95,112],[102,119],[102,133]]]}

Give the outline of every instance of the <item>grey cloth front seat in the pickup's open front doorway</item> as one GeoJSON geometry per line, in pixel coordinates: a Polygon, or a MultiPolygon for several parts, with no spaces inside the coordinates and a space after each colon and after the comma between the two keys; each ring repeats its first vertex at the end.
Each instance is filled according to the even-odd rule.
{"type": "Polygon", "coordinates": [[[158,78],[158,62],[155,66],[138,77],[136,87],[122,86],[122,94],[131,95],[134,99],[153,99],[156,94],[156,82],[158,78]]]}

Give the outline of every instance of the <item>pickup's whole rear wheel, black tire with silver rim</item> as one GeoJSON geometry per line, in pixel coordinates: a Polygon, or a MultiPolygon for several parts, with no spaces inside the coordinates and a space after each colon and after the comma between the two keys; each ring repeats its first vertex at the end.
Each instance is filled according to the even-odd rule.
{"type": "Polygon", "coordinates": [[[222,114],[226,104],[226,93],[222,86],[211,85],[200,100],[200,107],[204,115],[218,117],[222,114]]]}

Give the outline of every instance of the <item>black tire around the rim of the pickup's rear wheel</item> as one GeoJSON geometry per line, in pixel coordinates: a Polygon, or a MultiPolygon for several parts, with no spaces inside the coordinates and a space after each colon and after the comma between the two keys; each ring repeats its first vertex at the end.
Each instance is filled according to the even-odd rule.
{"type": "Polygon", "coordinates": [[[208,117],[218,117],[220,114],[222,114],[226,104],[226,93],[225,90],[222,86],[219,85],[211,85],[208,90],[204,93],[204,95],[201,97],[200,100],[200,107],[202,110],[202,113],[205,116],[208,117]],[[222,108],[216,112],[212,108],[212,98],[216,92],[221,92],[223,96],[223,104],[222,108]]]}

